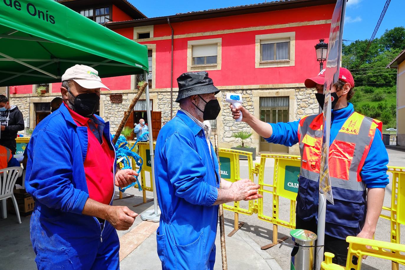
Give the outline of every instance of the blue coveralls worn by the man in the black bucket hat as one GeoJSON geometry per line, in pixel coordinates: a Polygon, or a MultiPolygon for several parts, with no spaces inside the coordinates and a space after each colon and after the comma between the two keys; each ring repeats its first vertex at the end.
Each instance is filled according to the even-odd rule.
{"type": "Polygon", "coordinates": [[[156,232],[163,269],[213,269],[217,233],[218,162],[203,129],[179,111],[156,142],[156,232]]]}

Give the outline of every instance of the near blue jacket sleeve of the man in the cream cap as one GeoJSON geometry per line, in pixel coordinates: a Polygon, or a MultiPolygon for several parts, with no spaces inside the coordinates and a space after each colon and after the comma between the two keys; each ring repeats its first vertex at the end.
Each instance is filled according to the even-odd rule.
{"type": "Polygon", "coordinates": [[[74,168],[67,142],[54,132],[38,130],[30,139],[27,154],[27,192],[49,208],[81,214],[89,195],[70,181],[74,168]]]}

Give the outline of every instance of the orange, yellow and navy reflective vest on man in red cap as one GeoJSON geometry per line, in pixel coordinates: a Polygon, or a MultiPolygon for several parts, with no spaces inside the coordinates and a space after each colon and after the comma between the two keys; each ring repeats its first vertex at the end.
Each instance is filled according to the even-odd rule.
{"type": "MultiPolygon", "coordinates": [[[[296,213],[304,220],[318,217],[322,125],[322,114],[310,115],[300,120],[298,128],[301,173],[296,213]]],[[[382,131],[380,121],[354,112],[329,147],[328,168],[335,204],[326,205],[328,235],[342,239],[356,236],[364,225],[367,193],[360,172],[377,128],[382,131]]]]}

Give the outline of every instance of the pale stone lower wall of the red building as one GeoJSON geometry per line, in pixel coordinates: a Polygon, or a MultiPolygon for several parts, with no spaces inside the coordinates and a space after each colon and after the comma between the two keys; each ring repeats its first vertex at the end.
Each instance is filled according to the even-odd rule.
{"type": "MultiPolygon", "coordinates": [[[[261,89],[262,90],[262,89],[261,89]]],[[[266,91],[282,91],[282,90],[292,90],[295,91],[295,104],[296,108],[290,111],[290,121],[300,119],[305,115],[311,115],[318,113],[318,102],[315,98],[315,91],[309,90],[307,88],[295,88],[295,89],[269,89],[266,91]]],[[[258,115],[259,108],[254,108],[254,91],[257,89],[243,89],[243,90],[222,90],[220,94],[217,95],[218,100],[221,105],[221,112],[217,119],[217,129],[214,130],[218,134],[220,147],[235,147],[241,144],[240,139],[233,138],[232,135],[235,132],[245,131],[254,132],[252,128],[246,123],[235,123],[232,118],[229,109],[229,103],[225,101],[226,93],[238,93],[242,95],[243,105],[252,114],[258,115]],[[256,111],[255,111],[256,109],[256,111]]],[[[114,93],[117,94],[117,93],[114,93]]],[[[124,112],[128,109],[132,98],[135,93],[122,93],[122,103],[112,103],[110,101],[110,94],[101,94],[100,96],[100,116],[106,121],[111,123],[111,132],[115,132],[119,126],[119,123],[124,117],[124,112]]],[[[162,112],[162,125],[167,121],[170,121],[170,91],[151,91],[151,99],[153,99],[153,110],[162,112]]],[[[177,97],[177,91],[173,93],[173,116],[176,115],[179,110],[179,104],[174,100],[177,97]]],[[[30,100],[31,102],[47,102],[48,98],[36,98],[36,97],[12,97],[11,104],[17,105],[20,111],[23,113],[24,118],[31,117],[31,123],[35,121],[35,113],[32,110],[30,116],[30,100]],[[46,100],[45,100],[46,99],[46,100]]],[[[141,99],[145,99],[145,94],[141,99]]],[[[291,105],[290,105],[291,106],[291,105]]],[[[32,128],[32,127],[31,127],[32,128]]],[[[213,132],[213,133],[214,133],[213,132]]],[[[213,139],[213,136],[211,136],[213,139]]],[[[245,140],[245,145],[258,148],[258,140],[254,136],[245,140]]]]}

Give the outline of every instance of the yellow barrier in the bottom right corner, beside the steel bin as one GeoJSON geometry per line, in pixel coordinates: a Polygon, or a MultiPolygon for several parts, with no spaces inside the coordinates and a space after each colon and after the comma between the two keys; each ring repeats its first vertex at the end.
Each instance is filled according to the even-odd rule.
{"type": "Polygon", "coordinates": [[[361,269],[362,257],[364,255],[388,259],[405,264],[404,244],[390,243],[377,241],[372,239],[347,236],[346,241],[349,243],[349,251],[347,252],[346,268],[332,263],[332,258],[335,256],[332,253],[325,252],[325,261],[321,264],[321,269],[325,270],[341,270],[341,269],[361,269]],[[370,249],[367,246],[371,247],[370,249]],[[353,257],[357,257],[357,264],[353,264],[353,257]]]}

